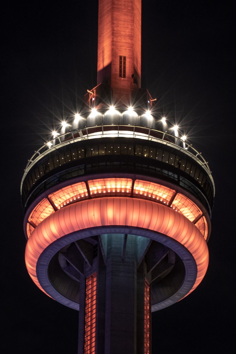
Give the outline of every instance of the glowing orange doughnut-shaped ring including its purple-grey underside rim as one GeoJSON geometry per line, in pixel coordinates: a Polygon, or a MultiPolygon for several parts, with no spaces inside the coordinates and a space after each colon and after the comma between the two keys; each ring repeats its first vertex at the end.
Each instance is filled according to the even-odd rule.
{"type": "MultiPolygon", "coordinates": [[[[101,229],[102,233],[108,229],[111,232],[122,229],[122,232],[162,242],[179,255],[182,250],[186,257],[183,252],[183,256],[180,257],[185,262],[187,273],[189,269],[186,263],[194,259],[197,272],[194,277],[194,271],[190,275],[191,288],[186,291],[187,286],[184,291],[179,290],[175,301],[170,300],[170,303],[167,301],[163,307],[192,292],[206,273],[209,257],[206,241],[197,227],[185,216],[150,200],[110,196],[70,204],[48,216],[35,228],[25,249],[25,262],[35,284],[52,296],[52,285],[46,279],[50,259],[75,238],[97,234],[98,229],[101,229]]],[[[187,282],[186,279],[185,281],[187,282]]],[[[76,308],[69,304],[69,301],[64,304],[76,308]]]]}

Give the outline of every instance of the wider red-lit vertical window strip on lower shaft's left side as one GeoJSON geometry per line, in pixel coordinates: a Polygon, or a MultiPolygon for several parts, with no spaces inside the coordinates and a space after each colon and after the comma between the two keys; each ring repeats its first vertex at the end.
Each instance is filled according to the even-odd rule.
{"type": "Polygon", "coordinates": [[[96,349],[97,273],[86,278],[85,289],[85,354],[95,354],[96,349]]]}

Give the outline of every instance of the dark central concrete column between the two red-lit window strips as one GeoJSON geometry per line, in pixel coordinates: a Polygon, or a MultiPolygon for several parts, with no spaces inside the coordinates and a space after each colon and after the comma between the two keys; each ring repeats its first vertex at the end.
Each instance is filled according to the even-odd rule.
{"type": "Polygon", "coordinates": [[[128,235],[121,259],[122,235],[108,235],[104,354],[136,354],[136,239],[128,235]]]}

